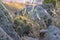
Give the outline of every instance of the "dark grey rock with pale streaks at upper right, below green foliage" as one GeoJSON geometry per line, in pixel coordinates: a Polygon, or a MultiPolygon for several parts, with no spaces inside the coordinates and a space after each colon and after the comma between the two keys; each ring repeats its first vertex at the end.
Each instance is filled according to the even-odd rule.
{"type": "Polygon", "coordinates": [[[43,4],[42,7],[51,15],[54,16],[56,15],[56,10],[53,6],[53,4],[43,4]]]}

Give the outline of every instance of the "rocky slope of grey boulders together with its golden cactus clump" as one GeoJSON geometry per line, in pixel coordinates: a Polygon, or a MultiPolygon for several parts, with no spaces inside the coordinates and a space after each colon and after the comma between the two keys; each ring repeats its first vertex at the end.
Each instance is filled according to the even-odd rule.
{"type": "Polygon", "coordinates": [[[17,11],[11,20],[0,6],[0,40],[60,40],[60,29],[53,24],[56,17],[54,6],[26,5],[17,11]]]}

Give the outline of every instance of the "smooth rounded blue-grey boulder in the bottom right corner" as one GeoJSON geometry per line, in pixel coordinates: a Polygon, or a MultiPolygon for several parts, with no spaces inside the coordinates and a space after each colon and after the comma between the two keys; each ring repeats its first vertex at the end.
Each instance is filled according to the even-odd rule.
{"type": "Polygon", "coordinates": [[[54,25],[48,27],[50,40],[60,40],[60,29],[54,25]]]}

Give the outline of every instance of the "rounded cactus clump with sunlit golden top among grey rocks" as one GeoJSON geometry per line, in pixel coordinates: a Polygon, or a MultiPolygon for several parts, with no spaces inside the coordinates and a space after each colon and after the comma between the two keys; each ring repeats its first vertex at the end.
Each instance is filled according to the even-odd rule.
{"type": "Polygon", "coordinates": [[[18,17],[15,18],[14,24],[17,26],[15,30],[20,36],[28,35],[32,31],[32,34],[34,36],[37,35],[38,31],[40,30],[38,23],[31,21],[26,16],[20,16],[19,18],[18,17]]]}

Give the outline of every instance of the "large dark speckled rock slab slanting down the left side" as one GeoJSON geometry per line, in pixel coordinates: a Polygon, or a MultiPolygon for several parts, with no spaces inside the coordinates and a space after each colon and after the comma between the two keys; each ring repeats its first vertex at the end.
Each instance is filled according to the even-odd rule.
{"type": "MultiPolygon", "coordinates": [[[[7,13],[6,13],[7,14],[7,13]]],[[[12,22],[7,18],[4,11],[0,10],[0,27],[13,39],[20,40],[20,37],[13,29],[12,22]]],[[[1,35],[0,35],[1,36],[1,35]]]]}

